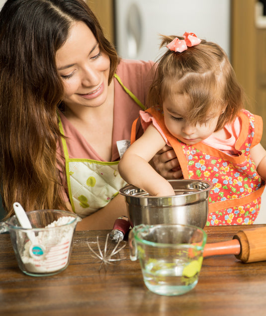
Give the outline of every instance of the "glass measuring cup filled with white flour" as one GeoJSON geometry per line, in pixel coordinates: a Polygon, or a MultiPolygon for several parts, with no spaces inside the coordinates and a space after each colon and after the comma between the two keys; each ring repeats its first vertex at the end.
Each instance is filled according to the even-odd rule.
{"type": "Polygon", "coordinates": [[[69,211],[28,211],[32,228],[22,228],[13,215],[0,223],[0,233],[9,232],[20,270],[30,276],[49,276],[65,270],[69,264],[73,234],[81,218],[69,211]],[[29,234],[41,245],[32,248],[29,234]]]}

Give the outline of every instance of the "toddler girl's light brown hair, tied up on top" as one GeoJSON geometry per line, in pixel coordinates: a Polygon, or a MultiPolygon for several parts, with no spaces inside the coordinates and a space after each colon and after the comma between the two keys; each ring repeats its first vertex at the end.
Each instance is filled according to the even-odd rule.
{"type": "MultiPolygon", "coordinates": [[[[183,39],[162,36],[160,48],[175,37],[183,39]]],[[[167,49],[159,59],[148,105],[162,109],[165,98],[177,93],[190,101],[187,119],[191,124],[204,123],[211,108],[223,110],[216,130],[233,121],[243,107],[243,90],[226,53],[205,40],[181,53],[167,49]]]]}

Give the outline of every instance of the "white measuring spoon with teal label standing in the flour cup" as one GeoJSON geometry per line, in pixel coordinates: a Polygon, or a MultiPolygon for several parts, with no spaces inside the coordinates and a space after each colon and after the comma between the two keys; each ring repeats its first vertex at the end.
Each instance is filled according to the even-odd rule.
{"type": "MultiPolygon", "coordinates": [[[[17,220],[22,228],[27,228],[27,229],[32,229],[31,223],[28,219],[28,216],[22,206],[18,203],[15,202],[13,204],[13,209],[15,211],[17,220]]],[[[29,249],[29,253],[31,256],[41,256],[44,254],[45,247],[43,245],[38,244],[36,240],[35,233],[33,231],[28,231],[27,236],[29,240],[31,241],[31,246],[29,249]]]]}

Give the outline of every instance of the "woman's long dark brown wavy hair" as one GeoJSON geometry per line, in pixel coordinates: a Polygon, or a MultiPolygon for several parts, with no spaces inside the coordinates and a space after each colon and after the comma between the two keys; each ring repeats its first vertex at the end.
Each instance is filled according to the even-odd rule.
{"type": "Polygon", "coordinates": [[[57,166],[58,111],[63,84],[55,63],[74,21],[83,21],[110,58],[109,84],[119,62],[84,0],[7,0],[0,11],[0,189],[6,217],[66,209],[57,166]]]}

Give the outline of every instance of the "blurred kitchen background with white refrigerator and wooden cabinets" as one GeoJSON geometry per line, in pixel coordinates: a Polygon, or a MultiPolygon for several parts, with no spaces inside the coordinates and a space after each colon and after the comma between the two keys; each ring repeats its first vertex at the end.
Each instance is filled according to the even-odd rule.
{"type": "MultiPolygon", "coordinates": [[[[266,0],[85,1],[123,58],[156,60],[159,34],[194,32],[222,46],[246,92],[246,107],[263,117],[266,148],[266,0]]],[[[266,223],[266,190],[260,222],[266,223]]]]}

